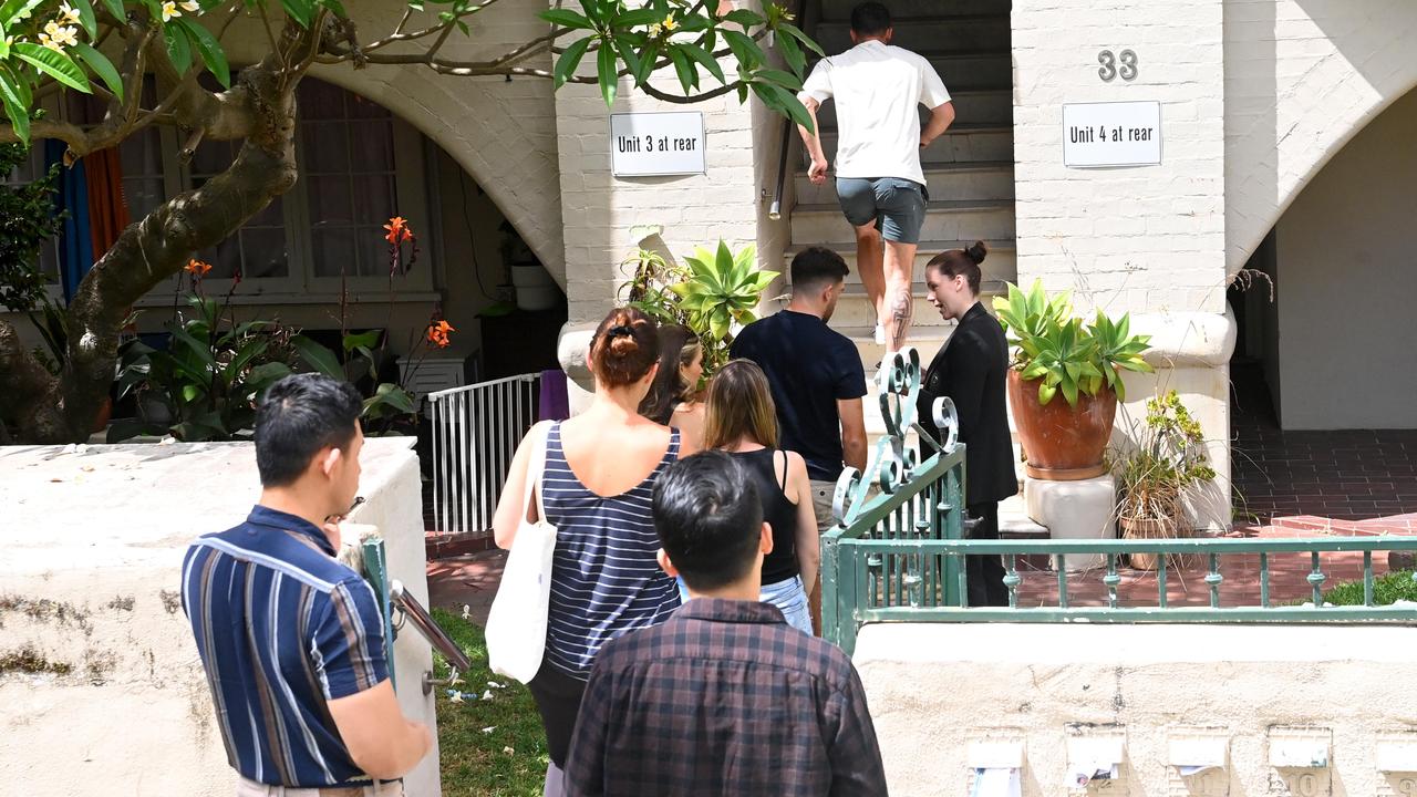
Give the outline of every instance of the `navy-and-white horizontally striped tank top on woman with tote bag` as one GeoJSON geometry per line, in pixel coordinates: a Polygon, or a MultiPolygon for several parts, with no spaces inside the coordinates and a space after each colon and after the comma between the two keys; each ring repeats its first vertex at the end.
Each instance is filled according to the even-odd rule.
{"type": "Polygon", "coordinates": [[[547,431],[541,501],[557,529],[547,611],[546,661],[585,681],[601,645],[626,631],[657,625],[679,608],[679,589],[659,567],[650,512],[655,479],[679,458],[669,450],[636,486],[609,498],[585,488],[565,462],[561,424],[547,431]]]}

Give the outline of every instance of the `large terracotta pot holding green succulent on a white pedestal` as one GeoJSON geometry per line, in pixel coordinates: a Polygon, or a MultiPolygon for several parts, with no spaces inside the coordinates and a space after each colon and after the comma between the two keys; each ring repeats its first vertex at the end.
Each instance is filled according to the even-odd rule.
{"type": "Polygon", "coordinates": [[[1097,396],[1078,396],[1071,407],[1061,391],[1039,404],[1039,379],[1022,379],[1009,369],[1009,404],[1019,427],[1024,469],[1036,479],[1091,479],[1107,472],[1102,452],[1112,437],[1117,393],[1102,386],[1097,396]]]}

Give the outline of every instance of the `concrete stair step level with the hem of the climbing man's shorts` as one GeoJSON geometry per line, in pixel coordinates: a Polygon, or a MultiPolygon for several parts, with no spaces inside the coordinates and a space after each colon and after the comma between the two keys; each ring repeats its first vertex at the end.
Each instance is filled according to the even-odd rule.
{"type": "MultiPolygon", "coordinates": [[[[931,201],[921,240],[975,241],[1015,237],[1013,200],[931,201]]],[[[798,204],[792,210],[794,244],[850,244],[856,234],[836,204],[798,204]]]]}

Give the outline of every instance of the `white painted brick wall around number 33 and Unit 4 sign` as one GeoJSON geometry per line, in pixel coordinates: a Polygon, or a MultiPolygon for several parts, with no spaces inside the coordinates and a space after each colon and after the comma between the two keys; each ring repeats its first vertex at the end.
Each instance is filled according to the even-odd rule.
{"type": "Polygon", "coordinates": [[[1224,311],[1221,0],[1016,0],[1019,281],[1080,311],[1224,311]],[[1138,77],[1102,82],[1100,50],[1138,77]],[[1063,104],[1159,101],[1162,165],[1063,166],[1063,104]]]}

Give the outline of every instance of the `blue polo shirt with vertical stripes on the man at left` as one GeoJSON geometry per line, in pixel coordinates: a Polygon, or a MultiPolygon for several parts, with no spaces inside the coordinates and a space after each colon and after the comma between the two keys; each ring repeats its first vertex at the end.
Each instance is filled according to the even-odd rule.
{"type": "Polygon", "coordinates": [[[368,783],[326,702],[388,678],[384,624],[324,532],[256,506],[187,549],[181,598],[237,771],[273,786],[368,783]]]}

